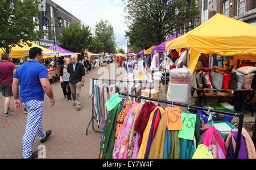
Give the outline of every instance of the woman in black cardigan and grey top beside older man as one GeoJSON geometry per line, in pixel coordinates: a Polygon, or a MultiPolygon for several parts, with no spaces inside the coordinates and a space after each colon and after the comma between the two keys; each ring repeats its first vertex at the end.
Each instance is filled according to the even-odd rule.
{"type": "Polygon", "coordinates": [[[64,66],[60,67],[60,84],[63,90],[64,98],[66,99],[68,97],[68,101],[71,101],[71,88],[69,86],[68,64],[69,58],[64,58],[64,66]]]}

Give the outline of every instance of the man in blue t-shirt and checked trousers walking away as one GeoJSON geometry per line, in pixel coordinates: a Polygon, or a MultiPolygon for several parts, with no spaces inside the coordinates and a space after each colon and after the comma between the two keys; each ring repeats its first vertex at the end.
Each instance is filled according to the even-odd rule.
{"type": "Polygon", "coordinates": [[[55,104],[52,87],[48,80],[48,71],[40,64],[43,59],[42,49],[34,47],[29,53],[30,60],[18,67],[13,79],[15,108],[21,108],[23,104],[28,111],[26,131],[22,140],[24,159],[38,157],[38,151],[33,152],[32,149],[36,136],[44,143],[52,133],[51,130],[44,132],[42,126],[44,92],[49,97],[51,106],[55,104]]]}

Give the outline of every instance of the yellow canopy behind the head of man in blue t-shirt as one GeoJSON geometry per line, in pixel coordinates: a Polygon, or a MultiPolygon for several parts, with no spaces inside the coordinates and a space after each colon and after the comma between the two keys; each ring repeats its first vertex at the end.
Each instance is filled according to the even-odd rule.
{"type": "MultiPolygon", "coordinates": [[[[15,46],[13,49],[11,49],[11,53],[9,54],[10,55],[10,58],[22,58],[22,57],[26,57],[26,55],[24,53],[28,53],[29,50],[32,48],[32,47],[38,47],[38,48],[41,48],[43,50],[43,53],[56,53],[54,52],[53,50],[49,50],[47,48],[44,48],[43,46],[40,46],[40,45],[36,45],[34,44],[33,42],[30,42],[32,44],[32,46],[28,46],[28,45],[23,45],[23,48],[19,47],[19,46],[15,46]]],[[[2,50],[0,50],[0,55],[3,54],[4,52],[2,50]]],[[[47,56],[48,58],[49,56],[47,56]]]]}

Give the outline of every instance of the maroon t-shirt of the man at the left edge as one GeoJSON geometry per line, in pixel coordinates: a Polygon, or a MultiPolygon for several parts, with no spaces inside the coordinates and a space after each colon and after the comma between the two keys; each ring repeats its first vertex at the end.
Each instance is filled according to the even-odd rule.
{"type": "Polygon", "coordinates": [[[13,83],[13,71],[16,66],[12,62],[0,61],[0,84],[13,83]]]}

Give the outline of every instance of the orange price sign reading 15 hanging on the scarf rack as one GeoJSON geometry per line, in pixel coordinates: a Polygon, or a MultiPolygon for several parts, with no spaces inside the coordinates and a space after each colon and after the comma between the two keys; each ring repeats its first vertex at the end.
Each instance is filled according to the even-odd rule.
{"type": "Polygon", "coordinates": [[[180,108],[166,108],[166,113],[168,130],[183,129],[180,108]]]}

